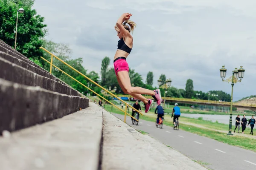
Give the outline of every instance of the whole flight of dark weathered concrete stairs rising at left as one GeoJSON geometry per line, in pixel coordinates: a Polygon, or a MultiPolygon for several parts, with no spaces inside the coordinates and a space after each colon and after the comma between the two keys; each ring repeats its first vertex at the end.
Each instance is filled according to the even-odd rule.
{"type": "Polygon", "coordinates": [[[0,40],[0,133],[85,109],[89,99],[0,40]]]}

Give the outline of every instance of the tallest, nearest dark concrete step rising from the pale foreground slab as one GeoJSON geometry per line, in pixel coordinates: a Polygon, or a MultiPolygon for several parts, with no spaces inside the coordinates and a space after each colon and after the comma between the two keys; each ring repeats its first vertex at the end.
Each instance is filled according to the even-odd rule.
{"type": "Polygon", "coordinates": [[[88,104],[87,98],[0,79],[0,133],[58,119],[88,104]]]}

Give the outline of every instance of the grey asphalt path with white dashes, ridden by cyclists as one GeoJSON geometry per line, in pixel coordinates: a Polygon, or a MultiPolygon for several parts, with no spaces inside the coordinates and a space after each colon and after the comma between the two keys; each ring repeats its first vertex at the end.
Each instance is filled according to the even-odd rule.
{"type": "MultiPolygon", "coordinates": [[[[113,114],[121,120],[124,118],[123,115],[113,114]]],[[[172,127],[166,125],[160,129],[155,127],[155,122],[140,119],[139,125],[132,125],[131,119],[127,119],[127,123],[149,133],[154,139],[173,147],[190,159],[201,162],[211,170],[256,169],[256,153],[253,151],[230,146],[183,130],[173,130],[172,127]]],[[[175,159],[171,162],[173,160],[175,159]]]]}

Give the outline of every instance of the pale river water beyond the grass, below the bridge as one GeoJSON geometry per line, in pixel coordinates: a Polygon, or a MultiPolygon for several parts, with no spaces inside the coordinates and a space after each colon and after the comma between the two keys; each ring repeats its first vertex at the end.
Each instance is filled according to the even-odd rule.
{"type": "MultiPolygon", "coordinates": [[[[197,119],[198,117],[203,117],[203,120],[211,120],[212,122],[216,122],[216,120],[219,123],[224,123],[224,124],[229,124],[229,119],[230,119],[230,115],[215,115],[215,114],[190,114],[190,113],[181,113],[181,116],[185,116],[185,117],[191,117],[191,118],[195,118],[197,119]]],[[[232,126],[235,125],[235,121],[236,121],[236,116],[237,115],[233,115],[232,116],[232,126]]],[[[252,116],[245,116],[246,119],[249,121],[249,119],[251,119],[252,116]]],[[[242,119],[243,116],[240,115],[240,119],[242,119]]],[[[254,118],[255,119],[255,118],[254,118]]],[[[247,122],[248,123],[248,122],[247,122]]],[[[247,126],[246,126],[247,127],[247,126]]],[[[250,125],[248,126],[250,128],[250,125]]],[[[240,127],[241,128],[241,127],[240,127]]],[[[256,128],[256,125],[254,125],[254,128],[256,128]]],[[[234,128],[232,128],[234,129],[234,128]]]]}

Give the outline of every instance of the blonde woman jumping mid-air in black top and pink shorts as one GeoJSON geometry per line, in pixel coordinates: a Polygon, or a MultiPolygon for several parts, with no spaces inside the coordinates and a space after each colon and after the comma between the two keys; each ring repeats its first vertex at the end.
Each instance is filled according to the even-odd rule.
{"type": "Polygon", "coordinates": [[[152,96],[157,101],[157,105],[161,104],[162,98],[159,89],[151,91],[145,88],[131,86],[128,73],[129,65],[126,62],[126,58],[131,53],[133,45],[133,37],[130,32],[133,32],[136,27],[136,24],[129,20],[131,16],[132,14],[130,13],[124,13],[116,22],[115,30],[120,40],[118,41],[117,51],[114,57],[114,68],[118,84],[122,88],[122,91],[134,98],[140,99],[145,105],[145,113],[148,113],[153,100],[146,99],[142,94],[152,96]]]}

